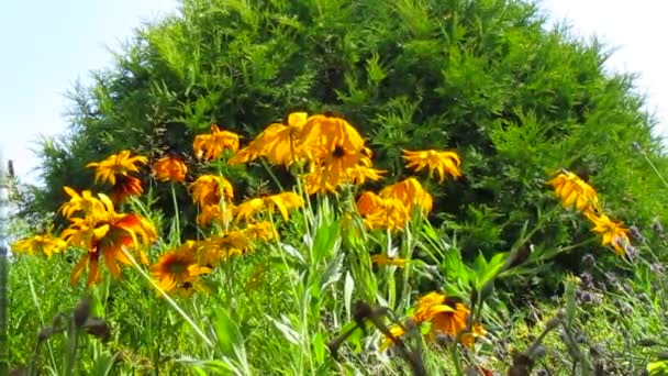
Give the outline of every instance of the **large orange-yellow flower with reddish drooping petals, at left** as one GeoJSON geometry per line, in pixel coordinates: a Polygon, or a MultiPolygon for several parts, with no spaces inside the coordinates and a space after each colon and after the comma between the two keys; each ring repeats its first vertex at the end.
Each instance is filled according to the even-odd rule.
{"type": "Polygon", "coordinates": [[[123,252],[124,248],[137,248],[141,262],[148,264],[146,254],[138,247],[147,246],[157,239],[157,233],[148,220],[138,214],[116,213],[111,200],[104,195],[99,196],[103,209],[96,206],[96,210],[84,218],[69,218],[70,225],[60,234],[68,245],[87,250],[73,270],[73,285],[79,280],[87,265],[87,286],[98,283],[100,257],[104,257],[104,264],[113,276],[121,277],[118,262],[131,264],[123,252]]]}

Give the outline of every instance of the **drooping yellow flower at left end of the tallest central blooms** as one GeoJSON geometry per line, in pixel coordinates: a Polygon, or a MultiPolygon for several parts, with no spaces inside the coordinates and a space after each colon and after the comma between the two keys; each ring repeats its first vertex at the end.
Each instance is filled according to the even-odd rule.
{"type": "Polygon", "coordinates": [[[274,123],[267,126],[246,147],[230,159],[230,164],[247,163],[257,157],[265,157],[275,165],[289,166],[302,157],[297,136],[307,123],[305,112],[292,112],[286,123],[274,123]]]}

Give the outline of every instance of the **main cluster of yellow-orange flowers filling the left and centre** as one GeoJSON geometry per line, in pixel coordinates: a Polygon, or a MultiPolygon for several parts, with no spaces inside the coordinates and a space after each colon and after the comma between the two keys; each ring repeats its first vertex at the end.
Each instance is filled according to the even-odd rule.
{"type": "MultiPolygon", "coordinates": [[[[336,192],[346,185],[377,181],[385,173],[374,167],[372,153],[358,131],[343,118],[331,114],[290,113],[283,122],[269,124],[244,147],[241,147],[236,133],[214,124],[210,133],[194,137],[192,150],[194,157],[204,166],[219,159],[234,166],[264,158],[272,165],[289,167],[297,174],[307,195],[336,192]]],[[[461,176],[460,158],[455,152],[403,153],[408,168],[415,172],[428,169],[430,177],[436,177],[438,183],[448,176],[461,176]]],[[[145,265],[154,258],[157,262],[149,269],[159,288],[189,295],[204,289],[200,278],[212,273],[221,262],[252,252],[257,242],[277,240],[274,214],[288,221],[291,211],[305,203],[305,198],[296,192],[300,191],[299,187],[237,203],[233,184],[219,168],[216,174],[202,174],[187,184],[199,211],[197,223],[201,229],[214,225],[210,236],[188,240],[163,252],[149,250],[158,235],[148,219],[116,211],[116,206],[129,197],[143,193],[138,175],[141,166],[147,164],[148,157],[133,155],[130,151],[89,163],[87,166],[94,168],[94,181],[112,186],[111,198],[65,187],[69,200],[63,203],[59,212],[69,221],[67,229],[60,236],[43,234],[18,242],[15,250],[47,255],[62,252],[67,246],[84,250],[86,253],[75,266],[70,281],[76,284],[88,269],[88,286],[100,280],[100,262],[111,275],[121,277],[121,265],[131,264],[131,257],[136,256],[145,265]],[[158,254],[149,257],[153,252],[148,251],[158,254]]],[[[152,172],[157,181],[186,184],[189,168],[182,158],[171,153],[157,158],[152,164],[152,172]]],[[[371,230],[401,230],[415,212],[428,214],[433,210],[433,201],[422,184],[409,177],[386,186],[378,193],[363,192],[357,199],[357,213],[371,230]]],[[[178,208],[175,210],[179,211],[178,208]]],[[[375,263],[404,266],[407,261],[377,255],[375,263]]]]}

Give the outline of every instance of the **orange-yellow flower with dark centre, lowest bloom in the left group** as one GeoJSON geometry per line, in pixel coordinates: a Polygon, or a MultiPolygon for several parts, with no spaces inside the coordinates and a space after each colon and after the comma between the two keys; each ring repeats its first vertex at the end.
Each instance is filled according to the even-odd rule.
{"type": "Polygon", "coordinates": [[[194,241],[187,241],[180,247],[162,255],[159,261],[151,266],[151,274],[166,292],[175,288],[190,287],[200,275],[209,273],[211,268],[198,264],[194,241]]]}

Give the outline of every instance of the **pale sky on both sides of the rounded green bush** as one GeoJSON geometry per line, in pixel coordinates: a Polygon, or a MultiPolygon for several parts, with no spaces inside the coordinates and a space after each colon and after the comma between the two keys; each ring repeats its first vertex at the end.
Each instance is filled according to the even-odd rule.
{"type": "MultiPolygon", "coordinates": [[[[617,52],[611,69],[637,71],[638,90],[668,135],[668,35],[660,0],[544,0],[553,20],[568,19],[577,33],[597,34],[617,52]]],[[[60,134],[69,106],[65,92],[89,71],[109,67],[145,20],[175,11],[177,0],[14,0],[0,12],[0,147],[23,181],[35,181],[31,152],[40,135],[60,134]]]]}

